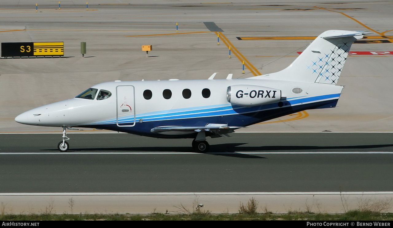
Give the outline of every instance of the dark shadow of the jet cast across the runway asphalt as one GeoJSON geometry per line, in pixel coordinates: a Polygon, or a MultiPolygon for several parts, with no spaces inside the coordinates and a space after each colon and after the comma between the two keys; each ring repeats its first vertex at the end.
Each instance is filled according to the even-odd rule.
{"type": "MultiPolygon", "coordinates": [[[[241,146],[247,143],[224,143],[210,146],[210,150],[206,155],[219,155],[226,157],[238,158],[257,158],[266,159],[265,157],[256,155],[247,155],[238,152],[284,152],[284,151],[336,151],[348,152],[359,151],[364,149],[393,147],[393,144],[377,144],[377,145],[353,145],[353,146],[241,146]],[[239,147],[240,146],[240,147],[239,147]]],[[[43,151],[57,151],[55,149],[43,151]]],[[[185,146],[150,146],[150,147],[119,147],[119,148],[71,148],[69,152],[75,151],[138,151],[138,152],[194,152],[191,147],[185,146]]],[[[391,150],[393,151],[393,148],[391,150]]],[[[65,152],[67,153],[67,152],[65,152]]]]}

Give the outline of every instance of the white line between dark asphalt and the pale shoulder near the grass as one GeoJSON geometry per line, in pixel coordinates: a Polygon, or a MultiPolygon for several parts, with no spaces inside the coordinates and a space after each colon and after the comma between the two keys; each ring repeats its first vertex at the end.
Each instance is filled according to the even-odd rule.
{"type": "Polygon", "coordinates": [[[0,196],[33,195],[376,195],[393,192],[37,192],[0,193],[0,196]]]}

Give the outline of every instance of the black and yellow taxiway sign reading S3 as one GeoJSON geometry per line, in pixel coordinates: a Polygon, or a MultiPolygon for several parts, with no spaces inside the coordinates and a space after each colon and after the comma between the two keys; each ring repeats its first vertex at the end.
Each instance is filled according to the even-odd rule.
{"type": "Polygon", "coordinates": [[[64,42],[1,43],[2,57],[63,56],[64,42]]]}

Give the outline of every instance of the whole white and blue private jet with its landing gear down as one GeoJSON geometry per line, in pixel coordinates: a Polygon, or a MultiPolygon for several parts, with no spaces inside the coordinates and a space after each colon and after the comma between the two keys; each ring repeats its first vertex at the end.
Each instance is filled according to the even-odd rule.
{"type": "Polygon", "coordinates": [[[334,108],[349,49],[364,31],[329,30],[319,35],[285,69],[256,77],[207,80],[105,82],[75,98],[26,111],[21,124],[62,127],[57,148],[70,148],[66,130],[97,128],[155,138],[193,139],[198,153],[206,137],[228,136],[239,128],[307,109],[334,108]]]}

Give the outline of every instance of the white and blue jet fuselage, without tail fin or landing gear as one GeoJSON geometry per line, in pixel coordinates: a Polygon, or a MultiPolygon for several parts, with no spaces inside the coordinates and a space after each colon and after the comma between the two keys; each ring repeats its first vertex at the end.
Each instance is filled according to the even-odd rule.
{"type": "Polygon", "coordinates": [[[15,120],[35,126],[73,126],[157,138],[195,138],[195,133],[167,135],[152,132],[152,129],[207,124],[245,127],[306,109],[335,107],[342,88],[264,78],[115,81],[92,86],[90,91],[76,98],[31,109],[15,120]],[[261,96],[268,99],[277,95],[279,98],[256,106],[231,104],[228,102],[230,86],[270,88],[270,91],[231,91],[231,96],[239,100],[261,96]]]}

